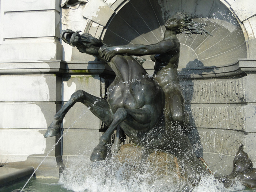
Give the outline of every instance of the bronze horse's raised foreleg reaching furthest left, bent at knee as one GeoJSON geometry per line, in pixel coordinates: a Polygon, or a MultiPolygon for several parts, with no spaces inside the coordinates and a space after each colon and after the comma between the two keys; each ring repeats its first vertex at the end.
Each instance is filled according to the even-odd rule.
{"type": "Polygon", "coordinates": [[[52,124],[48,127],[45,138],[56,136],[60,133],[61,123],[68,110],[75,105],[76,102],[82,102],[91,112],[100,118],[103,123],[109,125],[113,119],[108,102],[105,99],[95,97],[83,90],[78,90],[71,95],[68,102],[55,114],[52,124]]]}

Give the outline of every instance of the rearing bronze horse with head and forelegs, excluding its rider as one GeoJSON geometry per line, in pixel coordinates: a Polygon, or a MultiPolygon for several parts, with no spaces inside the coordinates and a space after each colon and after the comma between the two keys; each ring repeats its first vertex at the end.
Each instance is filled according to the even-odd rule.
{"type": "Polygon", "coordinates": [[[98,146],[94,148],[91,161],[106,157],[106,144],[110,141],[114,129],[121,127],[136,144],[149,149],[168,151],[187,162],[183,166],[191,175],[206,173],[195,157],[187,135],[177,124],[167,124],[167,120],[161,118],[165,95],[138,61],[131,56],[122,55],[114,56],[109,62],[104,60],[101,57],[101,49],[105,45],[88,34],[79,35],[66,30],[61,33],[61,38],[64,42],[76,46],[80,52],[93,54],[108,63],[116,78],[108,87],[108,99],[95,97],[83,90],[72,94],[69,101],[54,116],[45,137],[60,133],[65,114],[76,102],[82,102],[109,127],[100,137],[98,146]]]}

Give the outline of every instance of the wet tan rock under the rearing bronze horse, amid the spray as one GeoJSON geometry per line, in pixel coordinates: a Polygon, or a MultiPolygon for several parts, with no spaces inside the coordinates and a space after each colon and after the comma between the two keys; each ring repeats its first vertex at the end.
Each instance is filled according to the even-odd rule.
{"type": "MultiPolygon", "coordinates": [[[[148,152],[143,147],[133,144],[121,146],[120,151],[113,155],[114,161],[125,165],[123,178],[129,178],[137,173],[148,173],[158,179],[172,179],[173,182],[187,180],[187,174],[182,163],[170,153],[160,151],[148,152]],[[128,168],[128,169],[127,169],[128,168]]],[[[153,182],[148,178],[148,182],[153,182]]]]}

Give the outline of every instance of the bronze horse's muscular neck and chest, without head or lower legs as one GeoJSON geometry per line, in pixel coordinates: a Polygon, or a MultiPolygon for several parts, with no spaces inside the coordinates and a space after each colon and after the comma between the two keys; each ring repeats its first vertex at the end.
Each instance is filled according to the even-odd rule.
{"type": "Polygon", "coordinates": [[[117,109],[124,108],[130,116],[121,127],[128,126],[136,132],[151,131],[163,109],[162,89],[131,56],[117,55],[108,64],[116,73],[107,92],[110,109],[116,113],[117,109]]]}

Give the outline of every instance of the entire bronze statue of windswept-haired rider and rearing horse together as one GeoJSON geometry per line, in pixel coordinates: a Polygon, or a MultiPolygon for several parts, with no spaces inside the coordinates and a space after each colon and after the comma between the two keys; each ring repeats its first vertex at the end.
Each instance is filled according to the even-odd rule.
{"type": "Polygon", "coordinates": [[[172,153],[184,162],[189,178],[196,180],[209,174],[196,158],[187,135],[187,113],[178,81],[177,68],[180,42],[177,33],[208,34],[202,24],[192,22],[186,14],[174,15],[165,23],[162,41],[153,45],[127,45],[109,47],[90,34],[63,30],[61,39],[80,52],[98,57],[108,63],[116,74],[108,87],[108,98],[101,99],[78,90],[54,116],[45,137],[60,133],[61,123],[68,110],[82,102],[109,128],[100,137],[91,161],[106,158],[106,144],[117,127],[117,137],[112,152],[118,151],[118,138],[123,130],[132,142],[148,150],[172,153]],[[131,55],[151,54],[155,60],[154,78],[147,75],[142,65],[131,55]]]}

